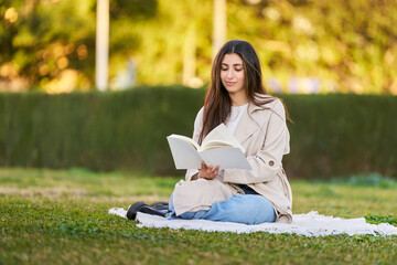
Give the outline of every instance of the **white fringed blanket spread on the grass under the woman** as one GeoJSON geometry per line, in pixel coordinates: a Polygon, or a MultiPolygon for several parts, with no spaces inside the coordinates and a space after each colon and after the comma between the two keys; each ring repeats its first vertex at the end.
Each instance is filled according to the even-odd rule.
{"type": "MultiPolygon", "coordinates": [[[[116,214],[126,218],[127,211],[122,208],[112,208],[109,214],[116,214]]],[[[369,224],[364,218],[342,219],[321,215],[315,211],[305,214],[294,214],[291,224],[285,223],[262,223],[257,225],[247,225],[239,223],[214,222],[207,220],[167,220],[165,218],[149,215],[138,212],[137,221],[139,227],[170,227],[174,230],[202,230],[210,232],[235,232],[253,233],[268,232],[275,234],[288,233],[304,236],[325,236],[336,234],[347,235],[397,235],[397,227],[388,224],[369,224]]]]}

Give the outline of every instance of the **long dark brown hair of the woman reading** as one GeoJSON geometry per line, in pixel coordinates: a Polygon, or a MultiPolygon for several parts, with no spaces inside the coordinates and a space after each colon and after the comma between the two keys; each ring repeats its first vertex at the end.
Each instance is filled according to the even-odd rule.
{"type": "Polygon", "coordinates": [[[245,91],[248,100],[261,106],[276,99],[276,97],[257,97],[258,95],[269,95],[269,93],[264,86],[259,59],[253,45],[240,40],[226,42],[216,54],[212,65],[211,84],[204,103],[203,129],[198,138],[200,144],[212,129],[225,123],[230,113],[232,99],[221,81],[222,61],[226,54],[230,53],[236,53],[243,61],[245,91]]]}

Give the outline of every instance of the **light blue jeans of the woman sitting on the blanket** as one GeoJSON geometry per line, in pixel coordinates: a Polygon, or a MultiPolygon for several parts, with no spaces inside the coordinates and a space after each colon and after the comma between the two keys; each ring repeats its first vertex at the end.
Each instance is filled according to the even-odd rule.
{"type": "Polygon", "coordinates": [[[211,221],[234,222],[244,224],[271,223],[276,221],[276,212],[271,202],[265,197],[259,195],[248,187],[243,188],[245,194],[234,194],[226,201],[215,202],[210,210],[197,212],[185,212],[176,216],[172,198],[169,208],[171,211],[170,220],[173,219],[204,219],[211,221]]]}

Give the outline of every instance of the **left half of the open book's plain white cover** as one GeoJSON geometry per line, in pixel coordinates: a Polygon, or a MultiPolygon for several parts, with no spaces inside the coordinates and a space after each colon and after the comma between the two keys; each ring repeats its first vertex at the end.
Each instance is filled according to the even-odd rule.
{"type": "MultiPolygon", "coordinates": [[[[185,137],[187,138],[187,137],[185,137]]],[[[187,138],[190,139],[190,138],[187,138]]],[[[176,169],[200,169],[202,159],[190,141],[181,137],[167,137],[176,169]]]]}

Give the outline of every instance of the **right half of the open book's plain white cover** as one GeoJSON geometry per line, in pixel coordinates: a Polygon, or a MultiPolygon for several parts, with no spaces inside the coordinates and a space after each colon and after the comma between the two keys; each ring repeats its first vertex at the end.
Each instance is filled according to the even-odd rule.
{"type": "Polygon", "coordinates": [[[239,148],[216,148],[200,151],[198,153],[208,167],[219,166],[219,169],[253,169],[239,148]]]}

